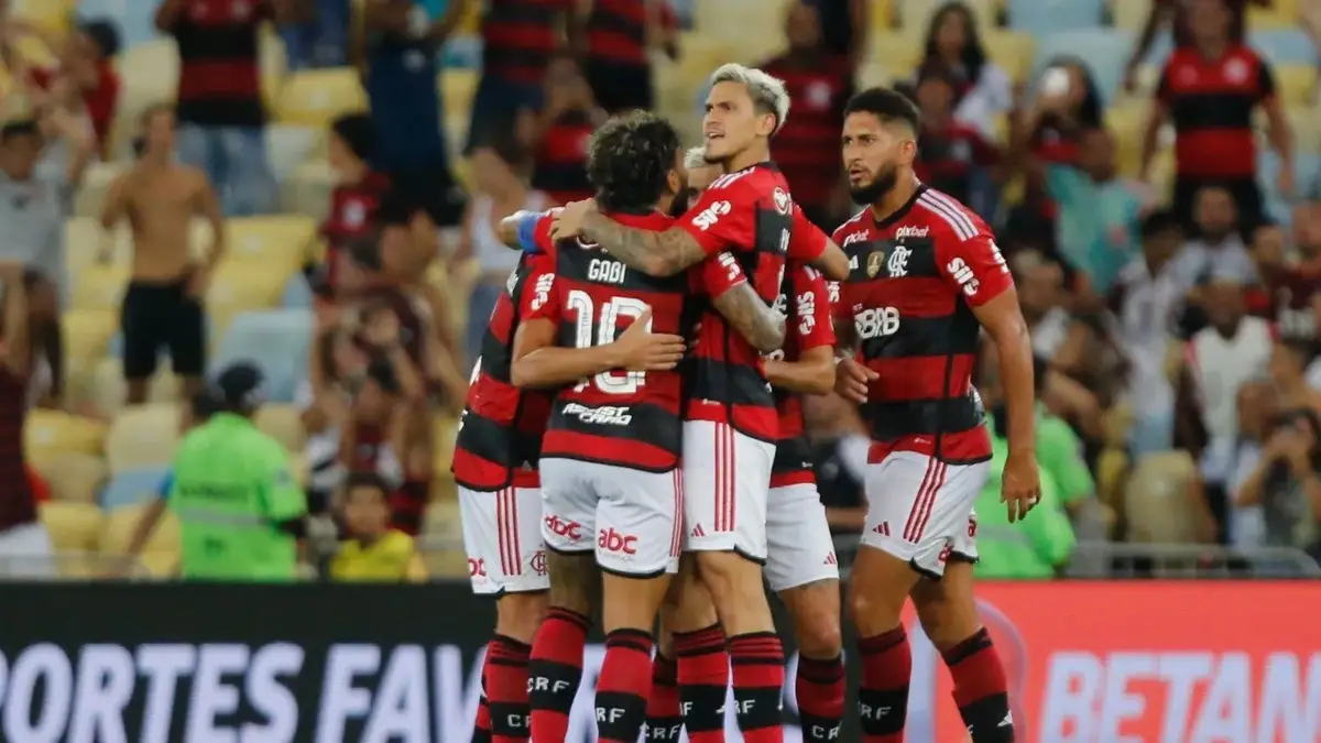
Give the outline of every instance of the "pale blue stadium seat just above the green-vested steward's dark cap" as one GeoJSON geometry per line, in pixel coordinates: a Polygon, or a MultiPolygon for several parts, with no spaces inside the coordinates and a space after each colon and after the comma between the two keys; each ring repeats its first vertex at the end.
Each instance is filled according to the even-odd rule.
{"type": "Polygon", "coordinates": [[[254,361],[266,373],[267,399],[293,402],[299,379],[308,374],[312,325],[310,309],[244,312],[230,324],[211,369],[254,361]]]}

